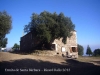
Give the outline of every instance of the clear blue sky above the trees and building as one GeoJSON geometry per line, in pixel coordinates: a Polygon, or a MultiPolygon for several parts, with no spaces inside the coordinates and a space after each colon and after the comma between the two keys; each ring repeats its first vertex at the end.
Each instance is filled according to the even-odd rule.
{"type": "Polygon", "coordinates": [[[12,30],[6,35],[7,47],[19,43],[24,25],[30,22],[32,13],[44,10],[51,13],[63,12],[71,17],[77,31],[78,44],[86,50],[100,48],[100,0],[0,0],[0,11],[12,16],[12,30]]]}

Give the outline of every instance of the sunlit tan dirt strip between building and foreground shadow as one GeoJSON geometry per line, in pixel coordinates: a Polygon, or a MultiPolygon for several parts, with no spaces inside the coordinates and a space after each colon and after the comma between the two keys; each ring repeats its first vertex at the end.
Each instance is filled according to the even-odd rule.
{"type": "MultiPolygon", "coordinates": [[[[34,59],[34,60],[42,60],[48,61],[51,63],[62,64],[62,62],[66,62],[63,57],[58,56],[37,56],[37,55],[20,55],[20,54],[12,54],[8,52],[0,52],[0,62],[1,61],[12,61],[18,59],[34,59]]],[[[62,64],[63,65],[63,64],[62,64]]]]}

